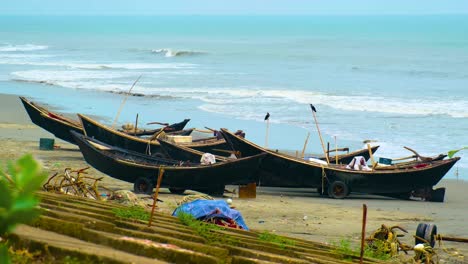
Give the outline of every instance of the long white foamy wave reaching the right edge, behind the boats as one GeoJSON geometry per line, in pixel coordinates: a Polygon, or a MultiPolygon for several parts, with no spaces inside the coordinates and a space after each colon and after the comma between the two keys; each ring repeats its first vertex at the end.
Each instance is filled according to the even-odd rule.
{"type": "MultiPolygon", "coordinates": [[[[215,89],[215,88],[152,88],[149,93],[175,93],[188,98],[200,99],[212,104],[214,109],[228,109],[232,113],[239,106],[285,107],[292,104],[308,104],[331,107],[345,111],[377,112],[398,115],[447,115],[454,118],[468,118],[468,101],[463,99],[440,100],[440,98],[397,98],[383,96],[332,95],[303,90],[263,90],[263,89],[215,89]],[[232,107],[228,107],[228,106],[232,107]],[[222,107],[220,107],[222,106],[222,107]]],[[[205,106],[207,108],[208,106],[205,106]]],[[[240,111],[237,114],[243,115],[240,111]]]]}

